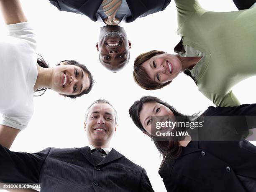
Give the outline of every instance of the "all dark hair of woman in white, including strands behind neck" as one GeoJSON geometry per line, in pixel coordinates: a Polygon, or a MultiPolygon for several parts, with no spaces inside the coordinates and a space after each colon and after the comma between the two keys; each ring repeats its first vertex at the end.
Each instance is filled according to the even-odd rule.
{"type": "MultiPolygon", "coordinates": [[[[37,54],[38,55],[38,54],[37,54]]],[[[77,95],[64,95],[64,94],[61,94],[62,96],[65,96],[65,97],[69,97],[69,98],[72,98],[72,99],[75,99],[77,97],[80,97],[84,94],[87,94],[89,93],[91,90],[92,90],[92,86],[94,85],[94,80],[92,78],[92,73],[87,69],[86,66],[82,65],[81,63],[78,63],[77,61],[74,61],[74,60],[64,60],[64,61],[61,61],[61,62],[66,62],[68,65],[74,65],[74,66],[77,66],[77,67],[80,67],[82,68],[82,70],[88,74],[88,78],[89,78],[89,81],[90,81],[90,86],[85,89],[84,91],[82,91],[82,93],[79,93],[77,95]]],[[[60,63],[57,65],[59,66],[60,63]]],[[[44,58],[41,56],[41,55],[38,55],[37,57],[37,64],[43,68],[49,68],[49,65],[46,63],[46,61],[44,60],[44,58]]],[[[35,92],[42,92],[40,95],[35,95],[35,96],[41,96],[45,93],[47,88],[39,88],[37,89],[35,92]]]]}

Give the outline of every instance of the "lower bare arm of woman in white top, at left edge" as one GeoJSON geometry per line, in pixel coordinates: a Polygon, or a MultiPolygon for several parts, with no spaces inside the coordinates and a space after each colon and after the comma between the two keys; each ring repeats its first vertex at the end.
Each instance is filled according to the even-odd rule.
{"type": "Polygon", "coordinates": [[[14,139],[20,132],[20,129],[14,129],[9,126],[0,125],[0,145],[10,149],[14,139]]]}

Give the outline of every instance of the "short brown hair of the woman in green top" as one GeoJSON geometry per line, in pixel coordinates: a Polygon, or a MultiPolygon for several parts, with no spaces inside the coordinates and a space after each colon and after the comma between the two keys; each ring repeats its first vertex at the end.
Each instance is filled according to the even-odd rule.
{"type": "Polygon", "coordinates": [[[172,81],[168,81],[166,83],[157,83],[155,81],[152,81],[151,78],[146,73],[145,68],[141,65],[145,61],[148,61],[148,59],[163,53],[165,52],[156,51],[156,50],[148,51],[146,53],[142,53],[135,59],[134,66],[133,66],[133,78],[134,78],[134,81],[141,88],[146,90],[154,90],[154,89],[163,88],[164,86],[172,82],[172,81]]]}

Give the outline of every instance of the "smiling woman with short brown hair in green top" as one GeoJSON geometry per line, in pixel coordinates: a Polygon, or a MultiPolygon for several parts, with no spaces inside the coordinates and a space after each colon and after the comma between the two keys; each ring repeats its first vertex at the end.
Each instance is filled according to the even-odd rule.
{"type": "Polygon", "coordinates": [[[175,0],[178,55],[150,51],[134,62],[133,77],[142,88],[162,88],[184,72],[216,106],[237,106],[231,88],[256,75],[256,8],[211,12],[197,0],[175,0]]]}

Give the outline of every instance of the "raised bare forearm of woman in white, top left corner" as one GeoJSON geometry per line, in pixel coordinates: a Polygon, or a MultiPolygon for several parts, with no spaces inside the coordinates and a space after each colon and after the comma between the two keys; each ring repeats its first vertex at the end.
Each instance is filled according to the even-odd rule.
{"type": "Polygon", "coordinates": [[[15,24],[28,21],[23,13],[19,0],[0,0],[0,9],[5,24],[15,24]]]}

